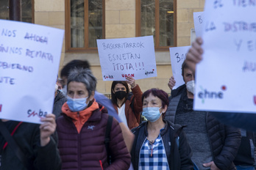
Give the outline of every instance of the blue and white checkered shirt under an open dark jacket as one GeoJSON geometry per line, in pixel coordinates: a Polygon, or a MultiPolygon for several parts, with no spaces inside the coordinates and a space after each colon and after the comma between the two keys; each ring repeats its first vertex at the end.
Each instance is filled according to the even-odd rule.
{"type": "MultiPolygon", "coordinates": [[[[162,131],[161,129],[160,131],[162,131]]],[[[147,139],[144,141],[139,160],[139,170],[168,170],[168,160],[162,138],[159,136],[152,144],[147,139]]]]}

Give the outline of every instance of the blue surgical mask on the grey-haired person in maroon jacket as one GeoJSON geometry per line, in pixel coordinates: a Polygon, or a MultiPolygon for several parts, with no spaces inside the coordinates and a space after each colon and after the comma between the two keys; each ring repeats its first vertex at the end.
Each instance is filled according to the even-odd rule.
{"type": "Polygon", "coordinates": [[[67,104],[68,108],[70,108],[71,111],[82,111],[87,107],[87,100],[88,97],[85,98],[79,98],[79,99],[72,99],[71,97],[67,96],[67,104]]]}

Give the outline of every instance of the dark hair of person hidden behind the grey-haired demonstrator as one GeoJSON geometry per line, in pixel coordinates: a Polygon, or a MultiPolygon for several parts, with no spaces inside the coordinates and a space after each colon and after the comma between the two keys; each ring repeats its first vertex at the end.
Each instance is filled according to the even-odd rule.
{"type": "Polygon", "coordinates": [[[87,60],[80,60],[80,59],[74,59],[71,62],[68,62],[68,64],[65,64],[63,69],[60,72],[60,77],[66,77],[68,78],[68,75],[72,69],[75,67],[77,68],[83,68],[83,69],[90,69],[90,64],[87,60]]]}

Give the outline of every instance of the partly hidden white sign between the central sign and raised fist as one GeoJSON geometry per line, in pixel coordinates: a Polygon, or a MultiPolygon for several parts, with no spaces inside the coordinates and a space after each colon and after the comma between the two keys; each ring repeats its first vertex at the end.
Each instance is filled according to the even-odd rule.
{"type": "Polygon", "coordinates": [[[182,63],[186,59],[190,47],[191,46],[169,48],[171,55],[171,70],[176,81],[176,84],[172,89],[177,89],[177,87],[185,84],[182,77],[182,63]]]}

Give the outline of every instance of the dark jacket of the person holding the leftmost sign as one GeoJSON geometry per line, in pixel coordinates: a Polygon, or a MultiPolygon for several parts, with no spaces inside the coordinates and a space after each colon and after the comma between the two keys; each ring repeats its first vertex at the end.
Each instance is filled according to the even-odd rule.
{"type": "MultiPolygon", "coordinates": [[[[60,155],[57,144],[53,138],[45,147],[40,147],[40,129],[38,124],[15,121],[7,122],[10,133],[15,130],[13,138],[26,155],[26,160],[33,169],[37,170],[58,170],[61,169],[60,155]]],[[[4,139],[0,138],[0,144],[4,139]]],[[[1,170],[27,170],[24,164],[13,152],[13,148],[7,144],[4,149],[1,146],[1,170]]]]}

